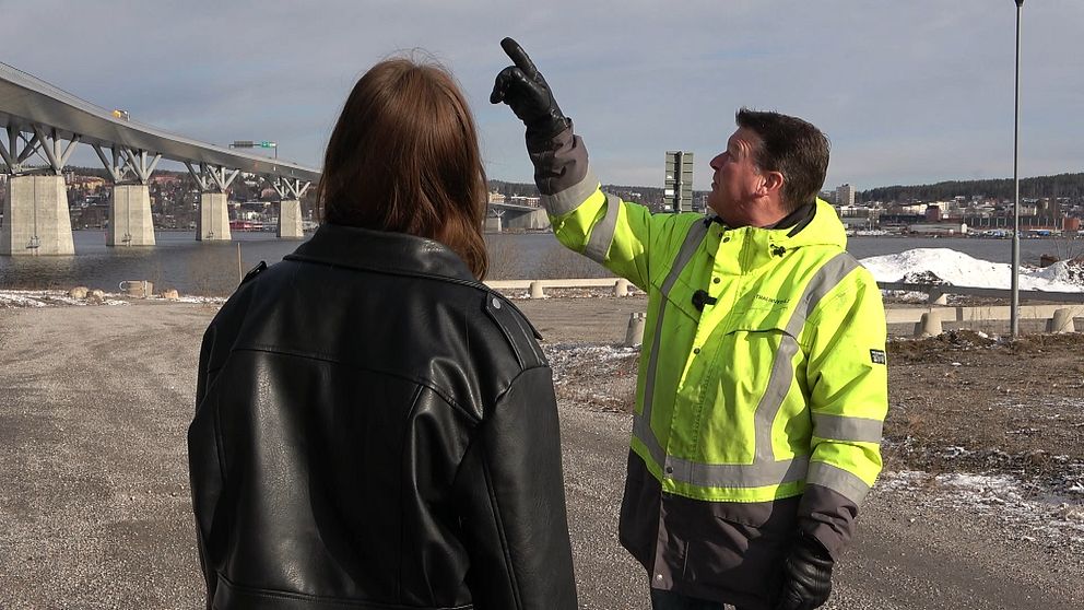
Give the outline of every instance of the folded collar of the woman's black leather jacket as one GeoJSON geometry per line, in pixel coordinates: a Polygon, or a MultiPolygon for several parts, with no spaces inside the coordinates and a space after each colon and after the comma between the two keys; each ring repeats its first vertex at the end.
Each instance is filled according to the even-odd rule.
{"type": "Polygon", "coordinates": [[[331,223],[321,224],[308,242],[283,258],[478,283],[463,260],[439,242],[331,223]]]}

